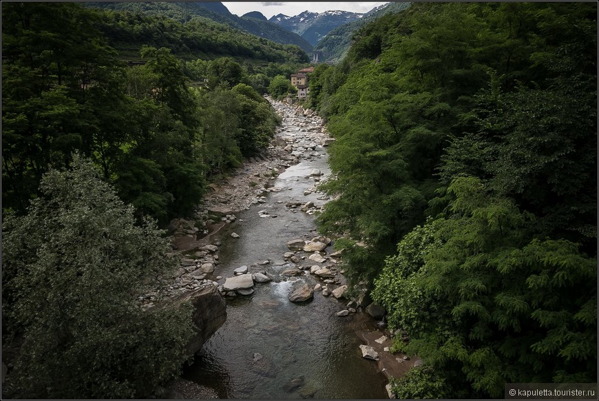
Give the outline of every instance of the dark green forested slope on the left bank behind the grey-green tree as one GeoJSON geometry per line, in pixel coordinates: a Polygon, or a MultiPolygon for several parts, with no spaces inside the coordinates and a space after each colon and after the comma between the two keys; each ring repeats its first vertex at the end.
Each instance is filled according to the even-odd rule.
{"type": "MultiPolygon", "coordinates": [[[[79,150],[139,216],[186,214],[211,175],[268,143],[277,119],[261,94],[297,68],[282,45],[202,19],[183,25],[75,3],[2,11],[5,212],[23,213],[48,167],[68,166],[79,150]],[[111,46],[119,43],[139,48],[144,64],[121,63],[111,46]],[[249,71],[231,56],[265,66],[249,71]]],[[[296,49],[299,61],[306,55],[296,49]]]]}

